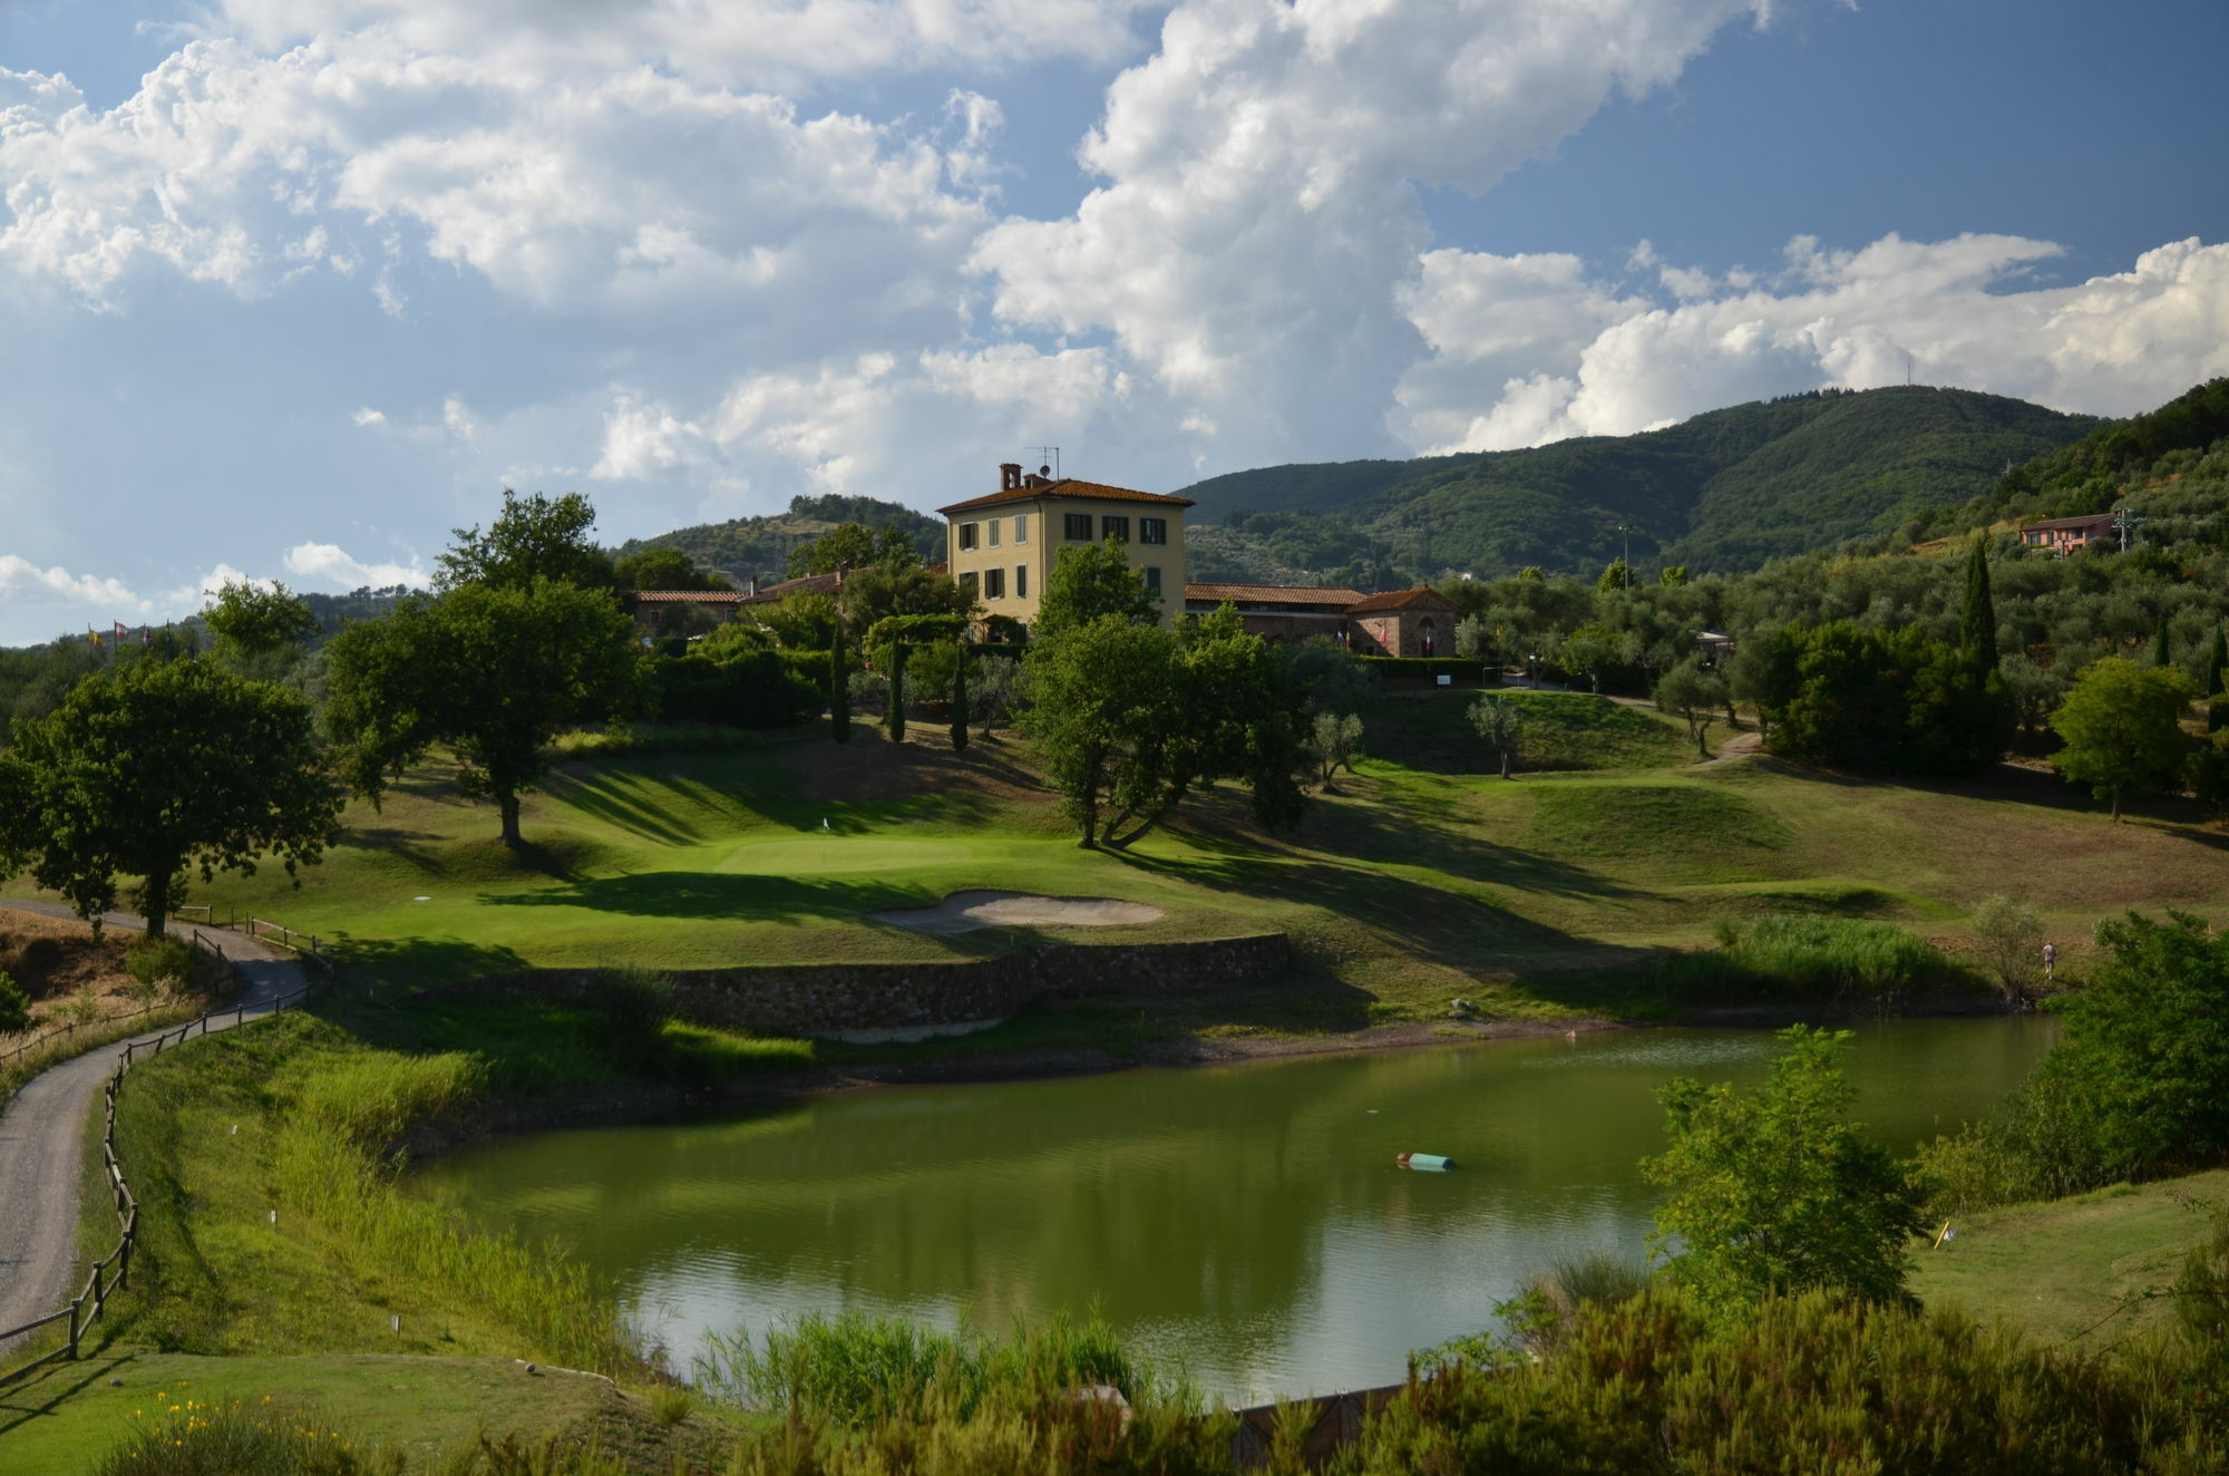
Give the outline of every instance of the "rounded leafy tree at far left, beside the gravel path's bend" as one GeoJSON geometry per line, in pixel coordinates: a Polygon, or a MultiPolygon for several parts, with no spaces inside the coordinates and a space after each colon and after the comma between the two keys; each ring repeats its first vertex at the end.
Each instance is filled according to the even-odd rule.
{"type": "Polygon", "coordinates": [[[82,916],[138,876],[160,936],[192,870],[288,874],[323,858],[341,814],[310,705],[210,660],[132,662],[80,682],[0,754],[0,861],[82,916]]]}

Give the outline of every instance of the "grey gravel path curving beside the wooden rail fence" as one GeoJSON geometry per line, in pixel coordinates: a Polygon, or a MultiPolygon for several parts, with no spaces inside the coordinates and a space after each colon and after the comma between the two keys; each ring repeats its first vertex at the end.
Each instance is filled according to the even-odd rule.
{"type": "MultiPolygon", "coordinates": [[[[11,901],[4,910],[76,916],[60,903],[11,901]]],[[[129,932],[147,928],[145,919],[127,912],[107,912],[100,921],[129,932]]],[[[203,930],[174,923],[172,932],[185,936],[203,930]]],[[[236,1003],[247,1008],[247,1019],[267,1014],[272,999],[303,985],[301,965],[265,943],[221,928],[207,930],[207,939],[241,965],[247,988],[236,1003]]],[[[212,1030],[230,1026],[230,1019],[210,1021],[212,1030]]],[[[134,1039],[152,1041],[156,1035],[160,1030],[134,1039]]],[[[74,1278],[85,1115],[125,1046],[129,1041],[100,1046],[31,1077],[0,1113],[0,1329],[60,1311],[78,1291],[74,1278]]],[[[0,1342],[0,1351],[7,1347],[0,1342]]]]}

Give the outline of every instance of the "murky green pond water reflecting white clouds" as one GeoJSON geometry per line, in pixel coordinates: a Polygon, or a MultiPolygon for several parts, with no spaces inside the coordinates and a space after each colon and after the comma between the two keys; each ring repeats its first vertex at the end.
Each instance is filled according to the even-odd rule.
{"type": "MultiPolygon", "coordinates": [[[[1859,1030],[1857,1115],[1904,1150],[2013,1086],[2055,1021],[1859,1030]]],[[[711,1331],[847,1307],[936,1324],[1099,1309],[1213,1394],[1402,1376],[1522,1278],[1643,1253],[1672,1077],[1752,1081],[1765,1032],[869,1090],[720,1121],[506,1139],[428,1193],[557,1235],[687,1369],[711,1331]],[[1409,1173],[1402,1150],[1451,1173],[1409,1173]]]]}

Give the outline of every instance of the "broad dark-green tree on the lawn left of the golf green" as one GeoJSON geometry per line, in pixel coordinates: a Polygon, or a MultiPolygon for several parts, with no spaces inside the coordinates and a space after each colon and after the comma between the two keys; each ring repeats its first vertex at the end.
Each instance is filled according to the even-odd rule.
{"type": "Polygon", "coordinates": [[[332,640],[325,722],[350,787],[377,800],[392,774],[448,745],[459,787],[493,800],[519,845],[519,796],[566,727],[640,702],[633,627],[604,591],[535,580],[459,584],[403,600],[332,640]]]}

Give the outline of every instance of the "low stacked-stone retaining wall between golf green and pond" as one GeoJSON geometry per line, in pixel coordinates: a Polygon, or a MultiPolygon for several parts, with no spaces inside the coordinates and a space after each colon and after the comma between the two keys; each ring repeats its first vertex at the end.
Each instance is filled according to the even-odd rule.
{"type": "MultiPolygon", "coordinates": [[[[756,1035],[903,1030],[1003,1019],[1036,999],[1195,994],[1268,983],[1291,963],[1282,932],[1201,943],[1052,943],[958,963],[791,963],[673,970],[680,1012],[756,1035]]],[[[533,970],[481,981],[580,994],[591,970],[533,970]]]]}

